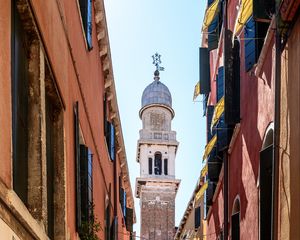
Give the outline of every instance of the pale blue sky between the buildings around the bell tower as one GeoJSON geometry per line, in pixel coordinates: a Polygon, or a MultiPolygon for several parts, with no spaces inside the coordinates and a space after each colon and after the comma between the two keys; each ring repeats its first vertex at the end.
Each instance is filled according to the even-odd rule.
{"type": "MultiPolygon", "coordinates": [[[[177,132],[176,178],[181,179],[176,196],[175,225],[178,226],[203,167],[205,118],[202,96],[193,102],[199,81],[199,46],[205,0],[105,0],[114,79],[134,192],[139,177],[136,162],[139,118],[143,90],[153,81],[152,55],[158,52],[165,71],[160,81],[172,94],[177,132]]],[[[135,199],[140,234],[140,204],[135,199]]]]}

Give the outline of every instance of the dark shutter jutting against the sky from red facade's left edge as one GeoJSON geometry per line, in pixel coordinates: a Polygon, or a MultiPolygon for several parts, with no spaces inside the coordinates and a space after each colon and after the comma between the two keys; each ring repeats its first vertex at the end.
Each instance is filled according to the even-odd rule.
{"type": "Polygon", "coordinates": [[[199,48],[199,74],[200,94],[208,94],[210,92],[210,65],[207,48],[199,48]]]}

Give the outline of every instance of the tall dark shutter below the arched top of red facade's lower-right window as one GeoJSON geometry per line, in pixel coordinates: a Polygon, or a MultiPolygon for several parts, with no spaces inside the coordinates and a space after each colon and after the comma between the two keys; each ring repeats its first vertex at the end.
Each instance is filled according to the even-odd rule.
{"type": "Polygon", "coordinates": [[[273,145],[260,152],[259,161],[259,226],[260,239],[271,239],[273,145]]]}

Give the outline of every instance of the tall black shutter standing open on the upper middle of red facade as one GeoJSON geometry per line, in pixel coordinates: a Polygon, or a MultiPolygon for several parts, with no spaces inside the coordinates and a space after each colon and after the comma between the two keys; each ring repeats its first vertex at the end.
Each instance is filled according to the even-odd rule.
{"type": "Polygon", "coordinates": [[[232,47],[232,32],[227,31],[225,44],[225,123],[240,122],[240,44],[234,40],[232,47]]]}

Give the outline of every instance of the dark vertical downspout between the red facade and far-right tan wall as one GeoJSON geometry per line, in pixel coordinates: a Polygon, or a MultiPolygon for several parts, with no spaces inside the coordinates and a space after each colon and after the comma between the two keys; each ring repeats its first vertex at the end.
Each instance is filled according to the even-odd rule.
{"type": "Polygon", "coordinates": [[[272,225],[271,239],[277,240],[278,229],[278,188],[279,188],[279,145],[280,145],[280,89],[281,89],[281,36],[280,36],[280,3],[275,1],[275,106],[273,136],[273,169],[272,169],[272,225]]]}

